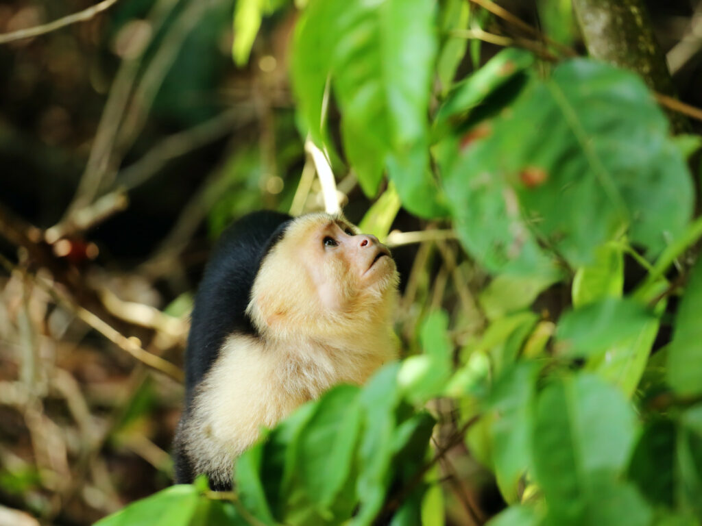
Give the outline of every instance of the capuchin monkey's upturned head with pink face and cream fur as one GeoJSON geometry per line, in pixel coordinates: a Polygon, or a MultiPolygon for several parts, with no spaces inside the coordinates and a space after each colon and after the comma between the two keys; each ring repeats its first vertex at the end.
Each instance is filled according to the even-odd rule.
{"type": "Polygon", "coordinates": [[[260,265],[246,310],[266,336],[324,339],[388,327],[397,267],[385,245],[343,216],[292,220],[260,265]]]}

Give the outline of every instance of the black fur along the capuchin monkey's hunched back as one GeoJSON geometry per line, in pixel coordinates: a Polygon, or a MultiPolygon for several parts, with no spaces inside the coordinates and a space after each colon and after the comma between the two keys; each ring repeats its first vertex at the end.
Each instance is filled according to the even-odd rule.
{"type": "Polygon", "coordinates": [[[246,316],[261,261],[280,241],[289,215],[260,210],[241,217],[220,237],[197,290],[185,351],[185,408],[233,332],[256,335],[246,316]]]}

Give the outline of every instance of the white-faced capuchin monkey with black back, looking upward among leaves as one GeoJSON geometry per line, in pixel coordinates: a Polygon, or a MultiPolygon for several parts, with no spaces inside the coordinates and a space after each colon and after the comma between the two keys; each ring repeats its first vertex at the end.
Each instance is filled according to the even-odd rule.
{"type": "Polygon", "coordinates": [[[176,482],[229,489],[261,426],[394,359],[397,281],[388,248],[341,216],[257,212],[227,229],[192,311],[176,482]]]}

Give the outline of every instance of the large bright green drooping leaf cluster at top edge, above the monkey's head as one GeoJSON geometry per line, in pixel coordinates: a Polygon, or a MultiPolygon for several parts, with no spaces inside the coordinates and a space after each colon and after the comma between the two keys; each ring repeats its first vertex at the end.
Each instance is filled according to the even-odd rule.
{"type": "Polygon", "coordinates": [[[366,194],[388,169],[411,212],[444,215],[430,173],[428,109],[437,50],[431,0],[313,0],[298,24],[293,88],[315,142],[331,79],[343,144],[366,194]]]}

